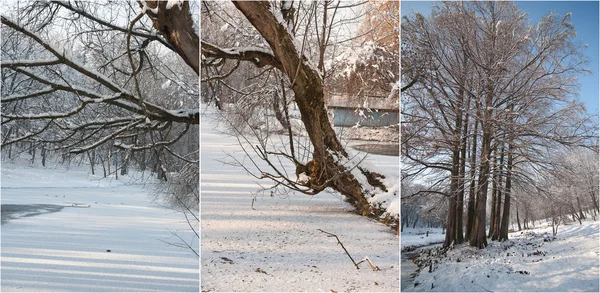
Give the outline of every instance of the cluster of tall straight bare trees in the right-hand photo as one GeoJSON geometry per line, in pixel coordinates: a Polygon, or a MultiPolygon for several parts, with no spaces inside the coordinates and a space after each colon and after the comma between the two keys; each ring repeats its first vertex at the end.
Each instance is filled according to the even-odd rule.
{"type": "Polygon", "coordinates": [[[403,198],[447,197],[445,246],[487,246],[488,215],[489,236],[507,239],[514,193],[548,194],[556,151],[597,151],[597,121],[575,98],[586,60],[570,17],[530,25],[515,3],[486,1],[403,18],[403,177],[427,178],[403,198]]]}

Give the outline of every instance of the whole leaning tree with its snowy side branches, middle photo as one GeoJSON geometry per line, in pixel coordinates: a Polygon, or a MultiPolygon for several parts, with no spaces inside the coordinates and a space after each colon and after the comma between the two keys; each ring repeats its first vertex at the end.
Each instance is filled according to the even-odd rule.
{"type": "MultiPolygon", "coordinates": [[[[323,50],[331,32],[328,23],[334,21],[329,17],[329,13],[335,13],[342,6],[340,3],[334,3],[328,1],[323,4],[319,8],[322,13],[317,14],[316,6],[321,3],[298,3],[299,6],[293,7],[295,12],[290,13],[291,7],[288,4],[291,2],[281,2],[277,5],[268,2],[233,1],[237,13],[254,27],[268,48],[226,48],[202,40],[202,67],[214,66],[225,60],[246,61],[258,68],[265,68],[265,71],[273,68],[285,77],[283,88],[289,87],[290,90],[282,90],[281,93],[285,92],[288,97],[293,94],[293,101],[300,113],[299,118],[310,140],[311,156],[308,162],[297,157],[291,130],[287,131],[290,140],[285,145],[287,150],[279,148],[278,151],[272,151],[267,149],[264,143],[251,146],[249,152],[259,154],[259,158],[267,162],[271,169],[260,169],[260,178],[273,180],[275,187],[286,187],[310,195],[331,188],[345,195],[362,215],[379,216],[380,212],[369,205],[367,198],[375,192],[387,191],[387,187],[380,181],[383,176],[361,167],[360,160],[356,160],[340,143],[325,109],[324,72],[310,62],[307,30],[317,25],[319,33],[314,35],[320,44],[316,54],[320,62],[317,64],[322,64],[321,69],[325,69],[323,59],[326,54],[323,50]],[[306,14],[299,13],[302,9],[306,9],[306,14]],[[317,15],[320,17],[320,24],[324,23],[323,25],[314,22],[317,15]],[[296,17],[305,17],[306,22],[302,24],[306,25],[300,25],[296,17]],[[298,37],[299,35],[302,37],[298,37]],[[280,160],[290,162],[295,166],[295,172],[288,172],[283,166],[277,166],[279,164],[276,163],[280,160]]],[[[235,69],[233,67],[233,70],[235,69]]]]}

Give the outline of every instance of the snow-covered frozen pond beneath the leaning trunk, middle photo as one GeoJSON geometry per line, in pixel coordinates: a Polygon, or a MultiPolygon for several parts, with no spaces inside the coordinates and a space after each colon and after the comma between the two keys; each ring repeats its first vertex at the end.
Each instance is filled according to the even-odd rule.
{"type": "MultiPolygon", "coordinates": [[[[202,117],[202,292],[399,291],[399,238],[388,226],[354,214],[338,194],[255,197],[257,182],[221,162],[226,154],[242,160],[237,141],[213,125],[202,117]],[[336,234],[356,262],[369,257],[380,271],[367,262],[357,270],[337,240],[318,229],[336,234]]],[[[397,157],[367,160],[398,175],[397,157]]]]}

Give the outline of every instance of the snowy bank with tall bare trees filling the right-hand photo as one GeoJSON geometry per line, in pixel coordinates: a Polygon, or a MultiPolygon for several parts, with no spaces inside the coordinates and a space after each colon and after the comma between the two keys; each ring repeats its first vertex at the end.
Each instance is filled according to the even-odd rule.
{"type": "Polygon", "coordinates": [[[401,242],[441,246],[403,289],[598,290],[598,114],[578,97],[598,65],[571,13],[528,17],[506,1],[402,18],[401,242]]]}

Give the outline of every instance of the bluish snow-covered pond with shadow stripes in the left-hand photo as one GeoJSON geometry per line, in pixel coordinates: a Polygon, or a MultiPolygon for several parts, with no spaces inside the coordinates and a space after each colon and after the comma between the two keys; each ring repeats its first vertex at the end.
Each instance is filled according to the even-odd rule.
{"type": "MultiPolygon", "coordinates": [[[[2,162],[2,292],[198,292],[182,214],[131,179],[2,162]]],[[[197,243],[197,242],[195,242],[197,243]]]]}

